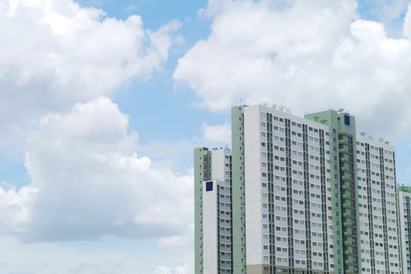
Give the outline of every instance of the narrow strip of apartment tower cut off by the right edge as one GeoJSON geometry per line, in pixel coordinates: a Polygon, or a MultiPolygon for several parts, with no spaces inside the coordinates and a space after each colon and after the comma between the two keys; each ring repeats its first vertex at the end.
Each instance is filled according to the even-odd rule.
{"type": "Polygon", "coordinates": [[[401,253],[402,271],[401,273],[411,273],[410,253],[411,253],[411,192],[410,188],[398,192],[399,223],[401,227],[401,253]]]}

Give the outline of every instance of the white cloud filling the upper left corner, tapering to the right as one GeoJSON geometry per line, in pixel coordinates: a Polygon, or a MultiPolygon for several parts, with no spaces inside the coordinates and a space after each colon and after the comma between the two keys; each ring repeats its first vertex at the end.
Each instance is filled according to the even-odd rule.
{"type": "Polygon", "coordinates": [[[171,21],[152,32],[140,16],[116,20],[72,0],[0,3],[0,126],[9,132],[32,122],[22,119],[27,116],[66,110],[134,77],[147,79],[168,58],[171,33],[180,25],[171,21]]]}

